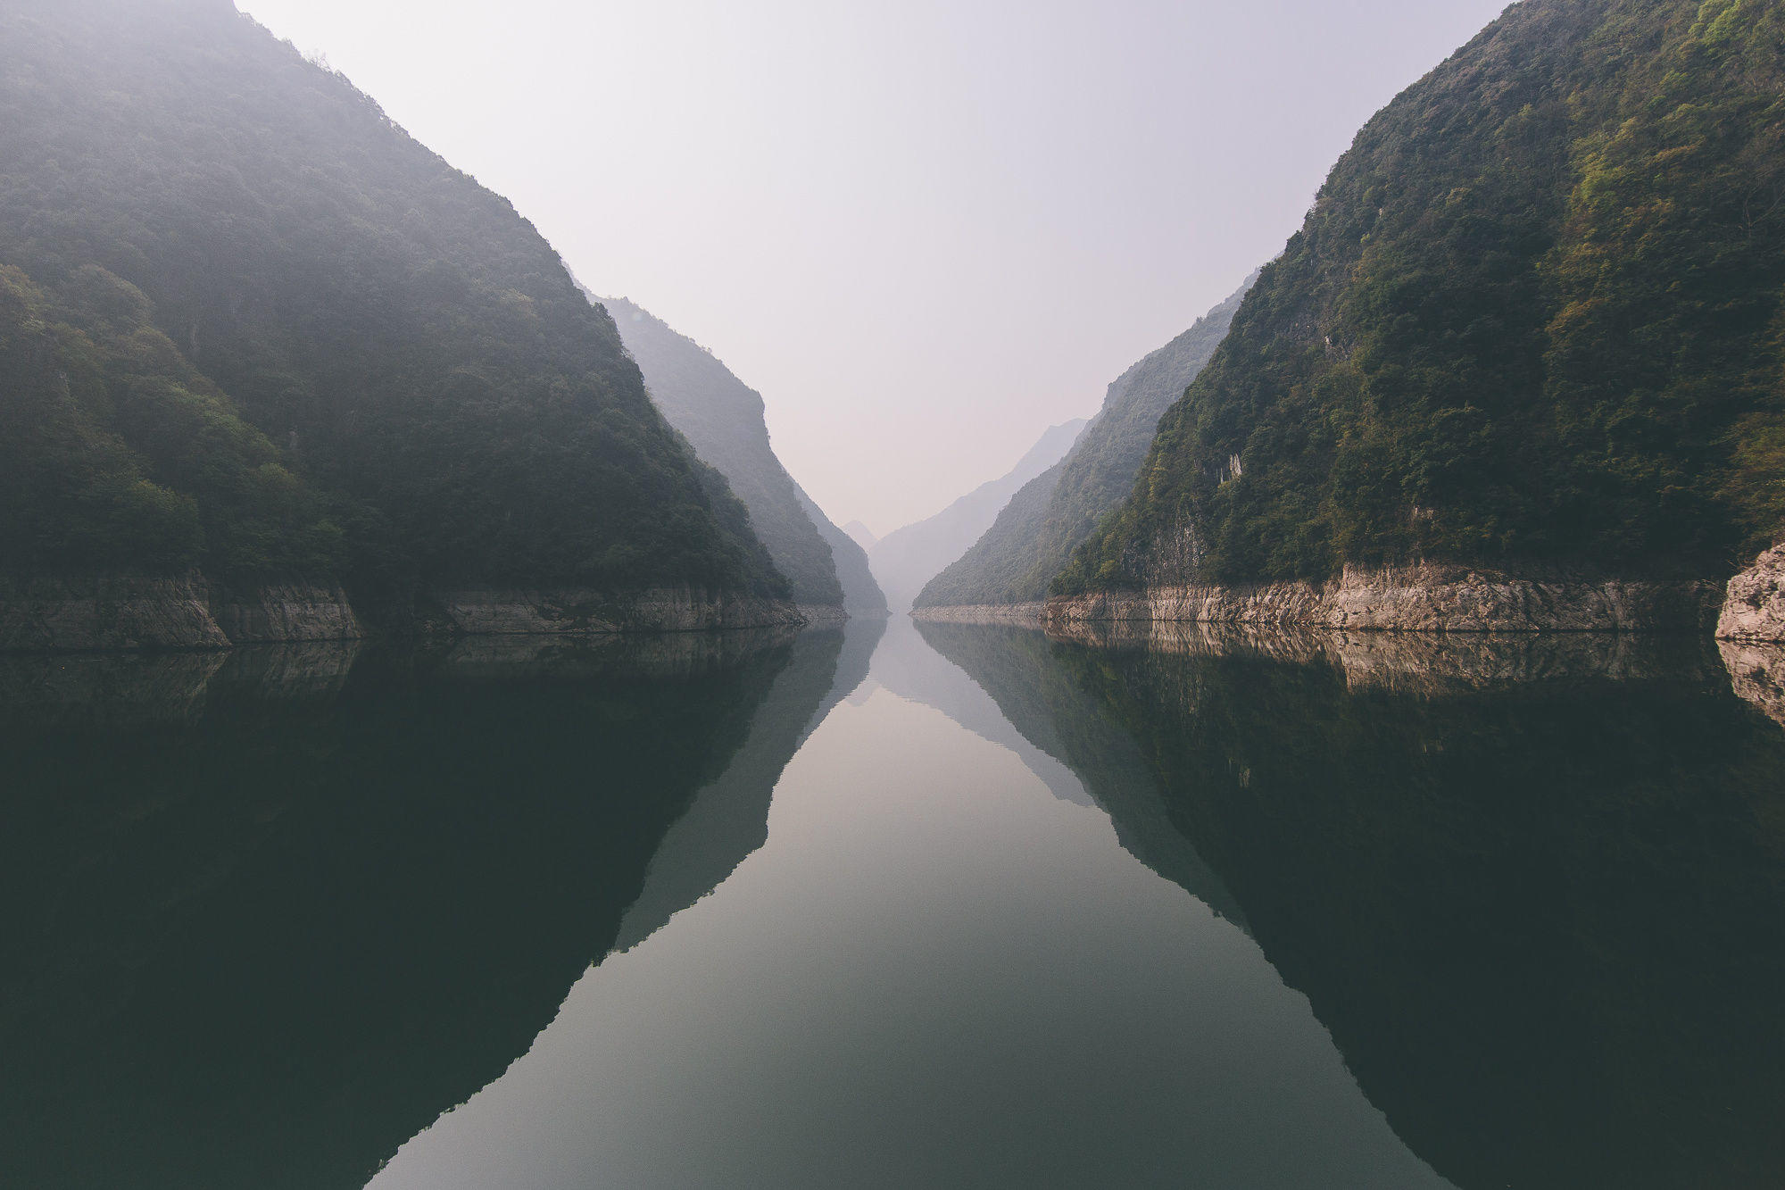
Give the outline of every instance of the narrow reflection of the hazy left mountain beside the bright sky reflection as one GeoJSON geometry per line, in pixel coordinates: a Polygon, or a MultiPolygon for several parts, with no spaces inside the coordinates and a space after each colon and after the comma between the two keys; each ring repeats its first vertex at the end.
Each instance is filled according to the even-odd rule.
{"type": "Polygon", "coordinates": [[[664,834],[644,890],[619,924],[616,951],[650,938],[768,842],[769,799],[782,768],[830,709],[868,677],[868,659],[884,631],[885,620],[857,618],[843,629],[800,634],[787,668],[757,708],[744,745],[664,834]]]}

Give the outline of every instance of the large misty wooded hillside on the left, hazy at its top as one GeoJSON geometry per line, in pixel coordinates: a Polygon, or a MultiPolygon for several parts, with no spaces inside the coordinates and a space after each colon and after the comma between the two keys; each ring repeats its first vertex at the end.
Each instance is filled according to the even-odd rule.
{"type": "Polygon", "coordinates": [[[552,247],[228,4],[0,9],[0,264],[9,566],[784,590],[552,247]]]}

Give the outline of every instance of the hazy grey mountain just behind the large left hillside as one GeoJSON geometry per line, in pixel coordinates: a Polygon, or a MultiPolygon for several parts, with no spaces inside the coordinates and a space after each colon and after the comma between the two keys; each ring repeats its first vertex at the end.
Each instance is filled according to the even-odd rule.
{"type": "MultiPolygon", "coordinates": [[[[619,338],[644,373],[644,386],[664,418],[687,438],[703,463],[725,473],[732,491],[750,509],[750,524],[793,584],[794,600],[818,608],[851,602],[819,522],[832,525],[775,457],[760,393],[732,375],[712,352],[634,302],[598,300],[614,316],[619,338]]],[[[853,586],[859,588],[859,581],[853,586]]],[[[866,597],[868,604],[884,606],[862,590],[853,595],[853,602],[866,597]]]]}

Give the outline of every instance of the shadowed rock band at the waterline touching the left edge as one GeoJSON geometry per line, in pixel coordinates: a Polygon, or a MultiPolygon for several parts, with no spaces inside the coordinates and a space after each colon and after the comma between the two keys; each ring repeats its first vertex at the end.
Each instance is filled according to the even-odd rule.
{"type": "Polygon", "coordinates": [[[0,650],[227,649],[205,581],[0,579],[0,650]]]}

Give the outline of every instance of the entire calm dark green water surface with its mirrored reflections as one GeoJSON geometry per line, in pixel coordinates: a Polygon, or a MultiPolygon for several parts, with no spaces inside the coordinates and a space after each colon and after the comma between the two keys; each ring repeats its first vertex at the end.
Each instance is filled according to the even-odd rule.
{"type": "Polygon", "coordinates": [[[1785,731],[1694,645],[892,622],[0,695],[0,1185],[1785,1174],[1785,731]]]}

